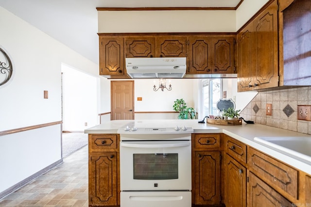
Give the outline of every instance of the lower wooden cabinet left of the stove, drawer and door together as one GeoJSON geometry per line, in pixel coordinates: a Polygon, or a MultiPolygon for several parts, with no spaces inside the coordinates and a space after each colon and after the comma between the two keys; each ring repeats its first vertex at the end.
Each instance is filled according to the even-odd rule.
{"type": "Polygon", "coordinates": [[[88,135],[88,205],[120,205],[119,134],[88,135]]]}

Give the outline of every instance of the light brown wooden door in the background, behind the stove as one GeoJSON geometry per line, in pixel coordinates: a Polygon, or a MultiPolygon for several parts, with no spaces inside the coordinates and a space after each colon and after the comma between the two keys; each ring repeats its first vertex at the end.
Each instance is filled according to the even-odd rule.
{"type": "Polygon", "coordinates": [[[134,80],[111,80],[111,120],[134,119],[134,80]]]}

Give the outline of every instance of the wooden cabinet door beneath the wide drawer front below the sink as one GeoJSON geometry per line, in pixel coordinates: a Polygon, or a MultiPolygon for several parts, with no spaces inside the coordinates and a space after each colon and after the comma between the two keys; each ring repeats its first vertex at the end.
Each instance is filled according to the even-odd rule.
{"type": "Polygon", "coordinates": [[[252,172],[249,172],[247,183],[248,207],[292,207],[292,203],[261,181],[252,172]]]}

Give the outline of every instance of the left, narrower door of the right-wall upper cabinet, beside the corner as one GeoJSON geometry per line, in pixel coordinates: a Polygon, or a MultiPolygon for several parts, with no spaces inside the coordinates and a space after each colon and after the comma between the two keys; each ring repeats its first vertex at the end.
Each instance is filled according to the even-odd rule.
{"type": "Polygon", "coordinates": [[[237,35],[238,92],[253,90],[252,83],[252,33],[253,24],[247,25],[237,35]]]}

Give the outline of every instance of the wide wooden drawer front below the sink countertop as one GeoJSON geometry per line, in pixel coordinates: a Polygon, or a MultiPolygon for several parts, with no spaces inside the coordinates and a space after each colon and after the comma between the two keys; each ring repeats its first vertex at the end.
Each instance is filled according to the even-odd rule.
{"type": "Polygon", "coordinates": [[[251,147],[248,149],[247,162],[250,171],[253,171],[276,191],[298,199],[297,170],[251,147]]]}

